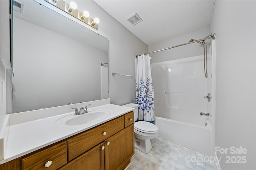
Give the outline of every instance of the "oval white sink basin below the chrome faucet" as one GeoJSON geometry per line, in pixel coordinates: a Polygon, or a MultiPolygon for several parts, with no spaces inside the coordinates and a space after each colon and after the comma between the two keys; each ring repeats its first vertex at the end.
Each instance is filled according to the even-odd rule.
{"type": "Polygon", "coordinates": [[[110,110],[92,110],[81,115],[74,115],[74,113],[72,113],[58,119],[55,123],[68,126],[84,125],[106,119],[111,113],[112,111],[110,110]]]}

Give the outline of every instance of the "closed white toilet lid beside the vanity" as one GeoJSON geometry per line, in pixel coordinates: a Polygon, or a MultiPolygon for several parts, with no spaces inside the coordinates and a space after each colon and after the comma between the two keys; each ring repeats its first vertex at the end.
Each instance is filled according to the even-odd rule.
{"type": "Polygon", "coordinates": [[[144,133],[155,133],[158,131],[158,127],[153,123],[147,121],[138,121],[134,123],[134,129],[144,133]]]}

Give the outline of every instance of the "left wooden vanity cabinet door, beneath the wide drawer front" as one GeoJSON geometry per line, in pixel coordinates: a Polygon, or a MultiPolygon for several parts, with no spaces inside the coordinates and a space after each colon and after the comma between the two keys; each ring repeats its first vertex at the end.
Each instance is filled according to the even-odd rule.
{"type": "Polygon", "coordinates": [[[58,170],[104,170],[104,143],[93,147],[58,170]]]}

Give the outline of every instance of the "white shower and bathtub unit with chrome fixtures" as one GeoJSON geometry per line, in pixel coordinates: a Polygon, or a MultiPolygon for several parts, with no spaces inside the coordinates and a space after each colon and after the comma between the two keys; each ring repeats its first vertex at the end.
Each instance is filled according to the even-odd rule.
{"type": "MultiPolygon", "coordinates": [[[[215,42],[212,42],[215,46],[215,42]]],[[[158,137],[214,155],[215,53],[151,64],[158,137]],[[209,98],[209,102],[208,102],[209,98]]]]}

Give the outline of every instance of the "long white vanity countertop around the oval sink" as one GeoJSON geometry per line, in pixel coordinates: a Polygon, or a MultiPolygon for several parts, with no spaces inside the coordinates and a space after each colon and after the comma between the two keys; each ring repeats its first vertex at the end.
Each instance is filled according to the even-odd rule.
{"type": "MultiPolygon", "coordinates": [[[[76,135],[92,127],[96,127],[97,125],[100,125],[111,119],[119,117],[120,115],[132,111],[133,108],[118,106],[114,104],[105,104],[102,106],[88,107],[88,113],[90,111],[97,111],[102,109],[109,110],[111,112],[110,115],[108,117],[96,120],[92,123],[86,123],[82,125],[70,126],[65,125],[65,123],[56,123],[58,119],[64,116],[74,115],[73,110],[72,112],[70,110],[69,113],[53,115],[49,117],[44,117],[42,119],[23,121],[20,123],[10,123],[8,139],[4,150],[4,159],[0,161],[0,164],[18,158],[20,156],[24,156],[25,154],[61,141],[62,139],[71,137],[72,135],[76,135]]],[[[25,114],[23,116],[27,115],[25,114]]],[[[10,122],[12,122],[12,120],[10,120],[10,122]]]]}

